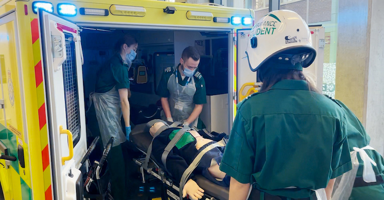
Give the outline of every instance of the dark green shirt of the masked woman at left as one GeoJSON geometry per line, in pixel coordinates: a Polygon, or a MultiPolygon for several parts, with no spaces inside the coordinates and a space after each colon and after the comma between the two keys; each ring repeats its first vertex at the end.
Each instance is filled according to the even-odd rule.
{"type": "Polygon", "coordinates": [[[128,69],[128,63],[120,54],[114,54],[97,73],[95,92],[105,93],[115,86],[116,89],[129,88],[128,69]]]}

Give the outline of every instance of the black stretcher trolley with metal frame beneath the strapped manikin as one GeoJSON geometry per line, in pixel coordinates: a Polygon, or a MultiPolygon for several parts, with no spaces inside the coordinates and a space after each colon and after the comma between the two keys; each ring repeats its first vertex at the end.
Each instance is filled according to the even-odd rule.
{"type": "MultiPolygon", "coordinates": [[[[151,134],[146,131],[145,128],[146,124],[138,124],[133,128],[130,138],[131,141],[137,146],[137,148],[142,151],[146,157],[148,157],[148,161],[146,162],[145,158],[135,158],[135,162],[140,166],[141,174],[142,174],[142,181],[145,182],[145,172],[155,176],[156,178],[160,179],[164,183],[164,196],[167,196],[166,199],[183,199],[182,197],[182,190],[183,185],[188,180],[188,177],[186,177],[184,180],[175,180],[172,175],[166,171],[163,167],[163,164],[161,162],[156,161],[156,159],[152,155],[147,155],[147,152],[151,151],[152,149],[152,139],[153,137],[151,134]]],[[[176,138],[176,137],[175,137],[176,138]]],[[[172,141],[171,141],[172,142],[172,141]]],[[[170,143],[171,143],[170,142],[170,143]]],[[[224,144],[225,145],[225,144],[224,144]]],[[[208,148],[208,147],[207,147],[208,148]]],[[[200,154],[200,153],[199,153],[200,154]]],[[[198,159],[199,155],[195,158],[198,159]]],[[[201,158],[201,157],[200,157],[201,158]]],[[[194,160],[194,162],[195,162],[194,160]]],[[[199,160],[196,160],[197,162],[199,160]]],[[[187,170],[194,169],[194,166],[192,166],[194,163],[192,163],[187,170]]],[[[188,172],[184,172],[184,174],[187,174],[188,172]]],[[[189,171],[191,173],[192,171],[189,171]]],[[[188,175],[187,175],[188,176],[188,175]]],[[[204,200],[226,200],[228,199],[229,195],[229,188],[223,187],[220,185],[217,185],[201,174],[195,175],[195,181],[197,184],[204,189],[204,196],[202,199],[204,200]]]]}

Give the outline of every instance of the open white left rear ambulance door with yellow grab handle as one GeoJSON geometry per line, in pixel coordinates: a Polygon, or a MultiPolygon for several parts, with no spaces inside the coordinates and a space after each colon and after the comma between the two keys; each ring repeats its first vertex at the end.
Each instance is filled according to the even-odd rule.
{"type": "Polygon", "coordinates": [[[55,199],[82,199],[77,166],[87,150],[79,27],[39,10],[55,199]]]}

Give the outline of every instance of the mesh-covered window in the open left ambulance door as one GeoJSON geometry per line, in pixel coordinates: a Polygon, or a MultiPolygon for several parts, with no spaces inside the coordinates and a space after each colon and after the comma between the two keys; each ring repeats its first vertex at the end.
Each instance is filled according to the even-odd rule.
{"type": "Polygon", "coordinates": [[[73,35],[65,33],[67,59],[63,63],[67,128],[72,132],[74,146],[80,140],[80,107],[77,84],[76,50],[73,35]]]}

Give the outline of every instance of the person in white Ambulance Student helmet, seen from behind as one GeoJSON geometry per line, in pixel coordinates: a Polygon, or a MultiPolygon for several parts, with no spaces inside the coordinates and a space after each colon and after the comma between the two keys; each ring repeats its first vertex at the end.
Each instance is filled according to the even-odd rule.
{"type": "Polygon", "coordinates": [[[310,38],[289,10],[268,13],[250,32],[246,54],[263,84],[238,104],[220,164],[230,200],[246,199],[250,185],[249,199],[330,199],[334,178],[351,169],[343,110],[302,73],[316,56],[310,38]]]}

